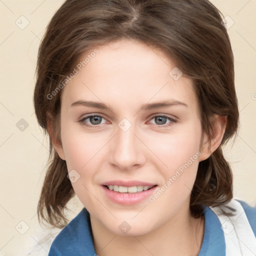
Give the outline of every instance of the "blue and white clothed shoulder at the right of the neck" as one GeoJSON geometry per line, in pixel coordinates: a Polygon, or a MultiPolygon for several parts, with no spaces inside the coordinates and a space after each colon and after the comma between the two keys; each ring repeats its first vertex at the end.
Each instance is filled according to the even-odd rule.
{"type": "MultiPolygon", "coordinates": [[[[239,227],[243,231],[245,230],[245,233],[242,232],[242,234],[248,234],[248,240],[253,241],[252,236],[256,236],[256,208],[243,200],[235,198],[220,206],[205,206],[203,213],[205,219],[204,236],[199,256],[225,255],[225,239],[231,238],[232,234],[236,238],[237,233],[232,232],[234,228],[237,230],[239,227]]],[[[239,232],[240,234],[241,232],[239,232]]],[[[233,242],[234,240],[231,239],[231,247],[235,245],[233,242]]],[[[238,243],[239,241],[237,241],[238,243]]],[[[230,245],[230,239],[228,245],[230,245]]],[[[228,248],[230,249],[230,246],[228,248]]],[[[244,255],[248,254],[245,253],[244,255]]]]}

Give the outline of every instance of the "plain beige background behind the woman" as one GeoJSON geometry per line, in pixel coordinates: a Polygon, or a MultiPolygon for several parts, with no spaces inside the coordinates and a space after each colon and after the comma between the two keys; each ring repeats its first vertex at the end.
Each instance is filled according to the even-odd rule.
{"type": "MultiPolygon", "coordinates": [[[[212,2],[234,21],[228,33],[235,58],[241,125],[233,147],[228,146],[224,151],[233,168],[235,195],[255,206],[256,1],[212,2]]],[[[36,205],[48,144],[35,119],[32,94],[38,45],[61,3],[62,0],[0,1],[0,255],[4,256],[24,255],[27,244],[37,242],[41,254],[32,255],[47,255],[48,244],[39,241],[42,232],[37,224],[36,205]],[[20,18],[21,15],[25,18],[20,18]],[[29,24],[20,29],[28,22],[26,19],[29,24]],[[23,131],[16,126],[21,118],[28,124],[23,131]]],[[[81,207],[77,199],[74,203],[70,217],[81,207]]]]}

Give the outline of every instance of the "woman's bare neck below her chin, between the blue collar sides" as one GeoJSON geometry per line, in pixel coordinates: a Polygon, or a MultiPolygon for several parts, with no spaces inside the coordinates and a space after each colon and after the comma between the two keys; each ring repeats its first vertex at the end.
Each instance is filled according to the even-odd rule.
{"type": "Polygon", "coordinates": [[[164,225],[143,235],[116,235],[92,216],[90,219],[99,256],[196,256],[203,239],[204,218],[192,217],[189,209],[181,209],[164,225]]]}

